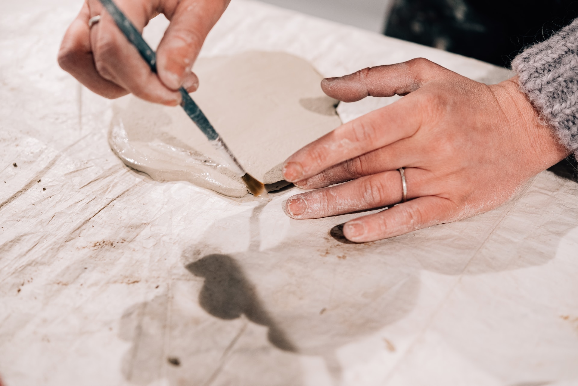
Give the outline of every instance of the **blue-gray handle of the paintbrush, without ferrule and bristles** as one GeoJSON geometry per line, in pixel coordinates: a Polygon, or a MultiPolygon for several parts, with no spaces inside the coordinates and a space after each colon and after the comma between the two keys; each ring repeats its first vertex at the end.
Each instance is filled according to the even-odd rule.
{"type": "MultiPolygon", "coordinates": [[[[154,53],[153,49],[144,41],[143,37],[140,35],[138,29],[131,23],[130,20],[124,13],[118,9],[116,4],[112,0],[100,0],[104,8],[108,11],[110,16],[114,19],[114,22],[123,32],[124,36],[127,37],[128,41],[132,43],[133,46],[139,51],[140,56],[149,64],[150,69],[153,72],[157,72],[157,55],[154,53]]],[[[179,88],[181,95],[183,96],[183,101],[181,106],[187,115],[192,119],[192,121],[197,124],[198,128],[207,136],[209,140],[217,140],[218,133],[215,131],[212,124],[203,114],[201,109],[195,101],[192,100],[191,96],[188,95],[187,90],[183,87],[179,88]]]]}

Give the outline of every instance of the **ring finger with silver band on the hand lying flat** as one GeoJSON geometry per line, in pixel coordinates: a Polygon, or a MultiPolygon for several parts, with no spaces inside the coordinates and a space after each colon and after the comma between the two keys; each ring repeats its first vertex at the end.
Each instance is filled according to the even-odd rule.
{"type": "MultiPolygon", "coordinates": [[[[427,170],[410,168],[405,169],[404,173],[409,174],[412,181],[411,189],[406,190],[406,199],[420,196],[421,189],[431,185],[429,182],[432,176],[427,170]]],[[[388,170],[292,196],[287,200],[286,209],[292,218],[320,218],[391,206],[402,199],[403,187],[399,172],[388,170]]]]}

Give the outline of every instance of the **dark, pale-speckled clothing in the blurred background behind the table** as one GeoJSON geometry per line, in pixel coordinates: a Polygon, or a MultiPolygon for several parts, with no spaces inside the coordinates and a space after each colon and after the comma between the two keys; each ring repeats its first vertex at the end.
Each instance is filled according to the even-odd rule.
{"type": "Polygon", "coordinates": [[[578,1],[392,0],[388,36],[510,66],[578,16],[578,1]]]}

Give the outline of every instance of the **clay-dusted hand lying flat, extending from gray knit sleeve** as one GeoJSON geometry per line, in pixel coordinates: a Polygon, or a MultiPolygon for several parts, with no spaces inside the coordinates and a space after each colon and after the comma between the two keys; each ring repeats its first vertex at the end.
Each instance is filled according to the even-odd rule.
{"type": "Polygon", "coordinates": [[[347,222],[344,236],[354,242],[491,210],[568,155],[553,129],[540,123],[517,77],[486,86],[418,58],[321,86],[343,102],[407,94],[303,147],[284,165],[287,181],[316,189],[288,199],[292,218],[390,206],[347,222]],[[402,199],[399,168],[410,201],[391,207],[402,199]]]}

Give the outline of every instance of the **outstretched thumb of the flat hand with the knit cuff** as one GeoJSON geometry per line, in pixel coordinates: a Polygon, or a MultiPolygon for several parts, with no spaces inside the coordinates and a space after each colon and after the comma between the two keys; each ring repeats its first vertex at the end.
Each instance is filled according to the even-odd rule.
{"type": "Polygon", "coordinates": [[[321,81],[321,88],[331,98],[355,102],[366,96],[406,95],[430,80],[449,71],[424,58],[365,68],[350,75],[321,81]]]}

